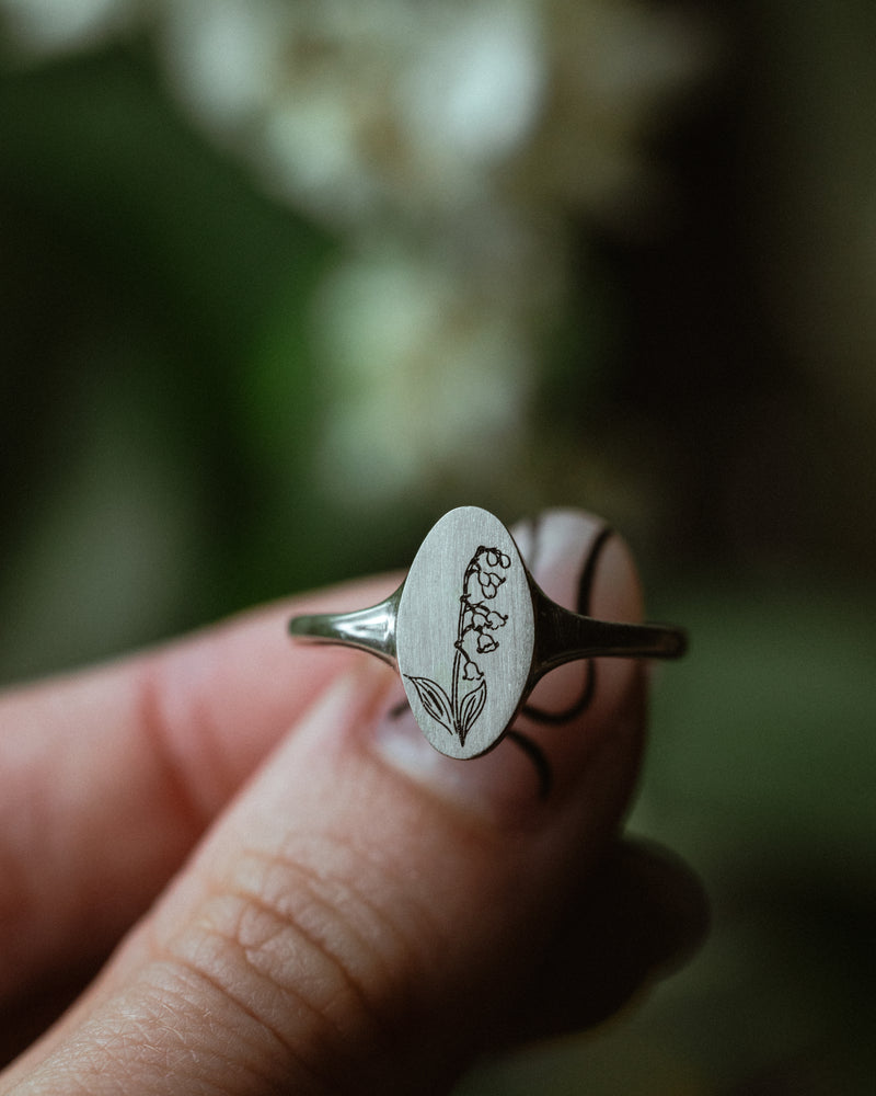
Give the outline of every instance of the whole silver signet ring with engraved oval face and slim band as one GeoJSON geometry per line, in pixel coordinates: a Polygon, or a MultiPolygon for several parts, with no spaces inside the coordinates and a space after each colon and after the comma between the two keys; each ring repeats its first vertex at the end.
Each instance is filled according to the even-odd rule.
{"type": "Polygon", "coordinates": [[[551,601],[508,529],[476,506],[445,514],[385,601],[297,616],[289,631],[389,662],[428,741],[462,758],[497,745],[539,681],[566,662],[687,649],[680,628],[596,620],[551,601]]]}

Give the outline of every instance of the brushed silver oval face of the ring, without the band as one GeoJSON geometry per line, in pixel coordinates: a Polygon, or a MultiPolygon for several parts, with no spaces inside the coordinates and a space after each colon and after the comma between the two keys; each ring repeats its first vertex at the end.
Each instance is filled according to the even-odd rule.
{"type": "Polygon", "coordinates": [[[399,671],[416,721],[450,757],[476,757],[523,699],[534,650],[532,595],[505,526],[461,506],[420,545],[395,625],[399,671]]]}

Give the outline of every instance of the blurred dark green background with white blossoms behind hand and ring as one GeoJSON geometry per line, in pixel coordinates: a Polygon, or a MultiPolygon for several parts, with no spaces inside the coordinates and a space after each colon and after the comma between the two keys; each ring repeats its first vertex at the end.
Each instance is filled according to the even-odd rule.
{"type": "Polygon", "coordinates": [[[695,961],[460,1096],[876,1076],[876,8],[0,0],[0,680],[606,514],[695,961]]]}

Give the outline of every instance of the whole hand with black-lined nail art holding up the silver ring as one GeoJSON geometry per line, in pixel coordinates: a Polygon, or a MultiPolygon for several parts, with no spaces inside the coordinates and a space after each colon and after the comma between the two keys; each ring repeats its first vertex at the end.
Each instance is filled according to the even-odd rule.
{"type": "MultiPolygon", "coordinates": [[[[553,512],[517,537],[554,600],[638,619],[630,556],[599,533],[553,512]]],[[[699,939],[685,869],[618,838],[643,665],[540,683],[532,708],[566,711],[519,721],[553,775],[540,795],[520,743],[443,757],[387,666],[290,647],[292,612],[397,581],[0,699],[8,1057],[120,940],[0,1092],[447,1092],[486,1048],[608,1015],[699,939]]]]}

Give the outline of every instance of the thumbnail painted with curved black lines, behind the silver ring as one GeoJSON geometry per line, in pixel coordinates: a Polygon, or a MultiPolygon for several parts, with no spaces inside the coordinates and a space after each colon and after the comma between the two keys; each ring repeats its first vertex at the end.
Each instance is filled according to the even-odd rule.
{"type": "MultiPolygon", "coordinates": [[[[561,605],[602,619],[635,620],[641,595],[623,543],[598,518],[553,510],[511,533],[537,583],[561,605]]],[[[401,686],[379,721],[376,747],[393,767],[475,810],[531,813],[574,785],[623,707],[629,660],[576,662],[548,674],[514,728],[488,754],[458,761],[425,739],[401,686]],[[609,663],[613,662],[613,665],[609,663]]]]}

